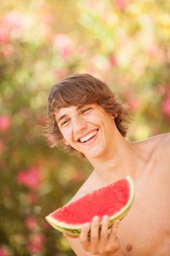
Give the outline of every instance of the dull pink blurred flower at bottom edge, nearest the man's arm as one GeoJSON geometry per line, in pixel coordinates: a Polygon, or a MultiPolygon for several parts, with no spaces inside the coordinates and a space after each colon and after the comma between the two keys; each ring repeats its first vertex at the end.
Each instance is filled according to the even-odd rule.
{"type": "Polygon", "coordinates": [[[27,245],[28,252],[30,253],[42,252],[44,243],[45,243],[45,236],[39,233],[33,234],[27,245]]]}

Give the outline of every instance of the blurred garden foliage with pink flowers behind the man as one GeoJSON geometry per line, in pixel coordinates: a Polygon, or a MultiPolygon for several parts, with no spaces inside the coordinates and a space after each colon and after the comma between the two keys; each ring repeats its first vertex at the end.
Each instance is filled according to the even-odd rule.
{"type": "Polygon", "coordinates": [[[106,81],[129,105],[129,140],[169,132],[169,12],[166,0],[1,1],[0,256],[74,255],[45,216],[92,167],[42,136],[58,80],[106,81]]]}

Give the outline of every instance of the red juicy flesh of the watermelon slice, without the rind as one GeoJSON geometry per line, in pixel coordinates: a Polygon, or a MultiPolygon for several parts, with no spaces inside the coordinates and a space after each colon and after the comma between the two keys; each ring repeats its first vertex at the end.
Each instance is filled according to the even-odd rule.
{"type": "Polygon", "coordinates": [[[82,224],[89,222],[95,215],[103,217],[104,214],[107,214],[111,217],[125,206],[128,197],[128,181],[123,179],[104,189],[101,188],[91,192],[68,206],[55,211],[53,218],[68,224],[82,224]]]}

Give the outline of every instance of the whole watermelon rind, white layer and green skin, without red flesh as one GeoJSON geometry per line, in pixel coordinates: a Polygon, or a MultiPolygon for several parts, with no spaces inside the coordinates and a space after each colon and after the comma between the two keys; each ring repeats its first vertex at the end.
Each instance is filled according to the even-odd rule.
{"type": "MultiPolygon", "coordinates": [[[[125,178],[128,180],[128,184],[130,187],[130,197],[128,199],[128,202],[125,204],[123,208],[121,208],[120,211],[117,211],[116,214],[112,215],[112,217],[109,217],[109,227],[113,225],[116,219],[123,219],[125,215],[128,214],[128,211],[130,210],[131,204],[133,203],[133,200],[134,200],[134,182],[130,176],[126,176],[125,178]]],[[[51,217],[50,214],[47,217],[45,217],[45,219],[56,230],[70,236],[80,236],[82,226],[84,225],[84,224],[72,225],[72,224],[66,224],[65,222],[58,222],[58,220],[51,217]]]]}

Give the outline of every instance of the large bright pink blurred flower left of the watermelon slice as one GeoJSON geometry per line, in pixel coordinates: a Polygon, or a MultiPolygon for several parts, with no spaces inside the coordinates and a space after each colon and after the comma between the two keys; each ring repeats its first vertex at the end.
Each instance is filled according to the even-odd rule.
{"type": "Polygon", "coordinates": [[[39,167],[33,166],[28,170],[23,170],[18,173],[17,181],[19,184],[25,185],[30,189],[37,189],[41,184],[39,167]]]}

